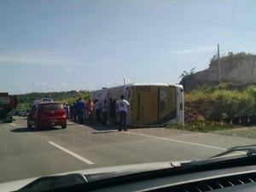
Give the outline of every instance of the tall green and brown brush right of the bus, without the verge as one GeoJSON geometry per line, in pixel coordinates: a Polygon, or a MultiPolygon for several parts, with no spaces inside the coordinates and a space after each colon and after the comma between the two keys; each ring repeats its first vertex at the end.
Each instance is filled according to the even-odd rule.
{"type": "Polygon", "coordinates": [[[256,85],[234,86],[228,83],[201,86],[185,93],[187,123],[255,123],[256,85]]]}

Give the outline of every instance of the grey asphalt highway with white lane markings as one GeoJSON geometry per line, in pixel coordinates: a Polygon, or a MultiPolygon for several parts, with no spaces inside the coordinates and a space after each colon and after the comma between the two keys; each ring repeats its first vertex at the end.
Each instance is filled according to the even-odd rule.
{"type": "Polygon", "coordinates": [[[0,183],[84,169],[171,160],[201,160],[255,139],[165,128],[117,131],[76,125],[33,131],[25,118],[0,125],[0,183]]]}

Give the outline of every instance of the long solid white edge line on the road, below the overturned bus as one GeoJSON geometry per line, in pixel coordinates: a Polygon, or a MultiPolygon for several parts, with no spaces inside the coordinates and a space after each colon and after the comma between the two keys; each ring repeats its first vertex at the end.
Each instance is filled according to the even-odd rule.
{"type": "Polygon", "coordinates": [[[223,150],[223,151],[226,151],[226,150],[227,150],[227,148],[220,148],[220,147],[216,147],[216,146],[212,146],[212,145],[205,145],[205,144],[200,144],[200,143],[184,142],[184,141],[175,140],[175,139],[170,139],[170,138],[165,138],[165,137],[155,137],[155,136],[145,135],[145,134],[136,133],[136,132],[131,132],[131,131],[124,131],[124,133],[133,134],[133,135],[137,135],[137,136],[143,136],[143,137],[157,138],[157,139],[166,140],[166,141],[171,141],[171,142],[176,142],[176,143],[184,143],[184,144],[189,144],[189,145],[196,145],[196,146],[201,146],[201,147],[205,147],[205,148],[214,148],[214,149],[223,150]]]}

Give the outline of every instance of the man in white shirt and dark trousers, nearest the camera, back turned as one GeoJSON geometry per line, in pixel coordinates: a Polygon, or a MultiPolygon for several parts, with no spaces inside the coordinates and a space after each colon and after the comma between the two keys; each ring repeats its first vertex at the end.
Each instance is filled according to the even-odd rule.
{"type": "Polygon", "coordinates": [[[120,100],[116,101],[119,110],[119,131],[122,131],[122,127],[124,131],[127,131],[126,116],[130,103],[125,100],[124,95],[120,96],[120,98],[120,100]]]}

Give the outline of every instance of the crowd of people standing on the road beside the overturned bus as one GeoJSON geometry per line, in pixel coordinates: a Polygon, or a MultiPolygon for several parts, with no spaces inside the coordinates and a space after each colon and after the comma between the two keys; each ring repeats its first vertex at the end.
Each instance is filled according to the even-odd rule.
{"type": "Polygon", "coordinates": [[[104,100],[101,103],[99,100],[92,102],[88,99],[84,102],[81,98],[77,102],[65,103],[63,105],[67,119],[74,123],[84,124],[85,119],[88,119],[89,124],[92,124],[93,113],[95,112],[96,121],[102,122],[102,125],[113,125],[119,119],[119,131],[124,129],[127,131],[126,117],[130,103],[125,100],[125,96],[120,96],[120,100],[114,101],[112,98],[109,101],[104,100]]]}

